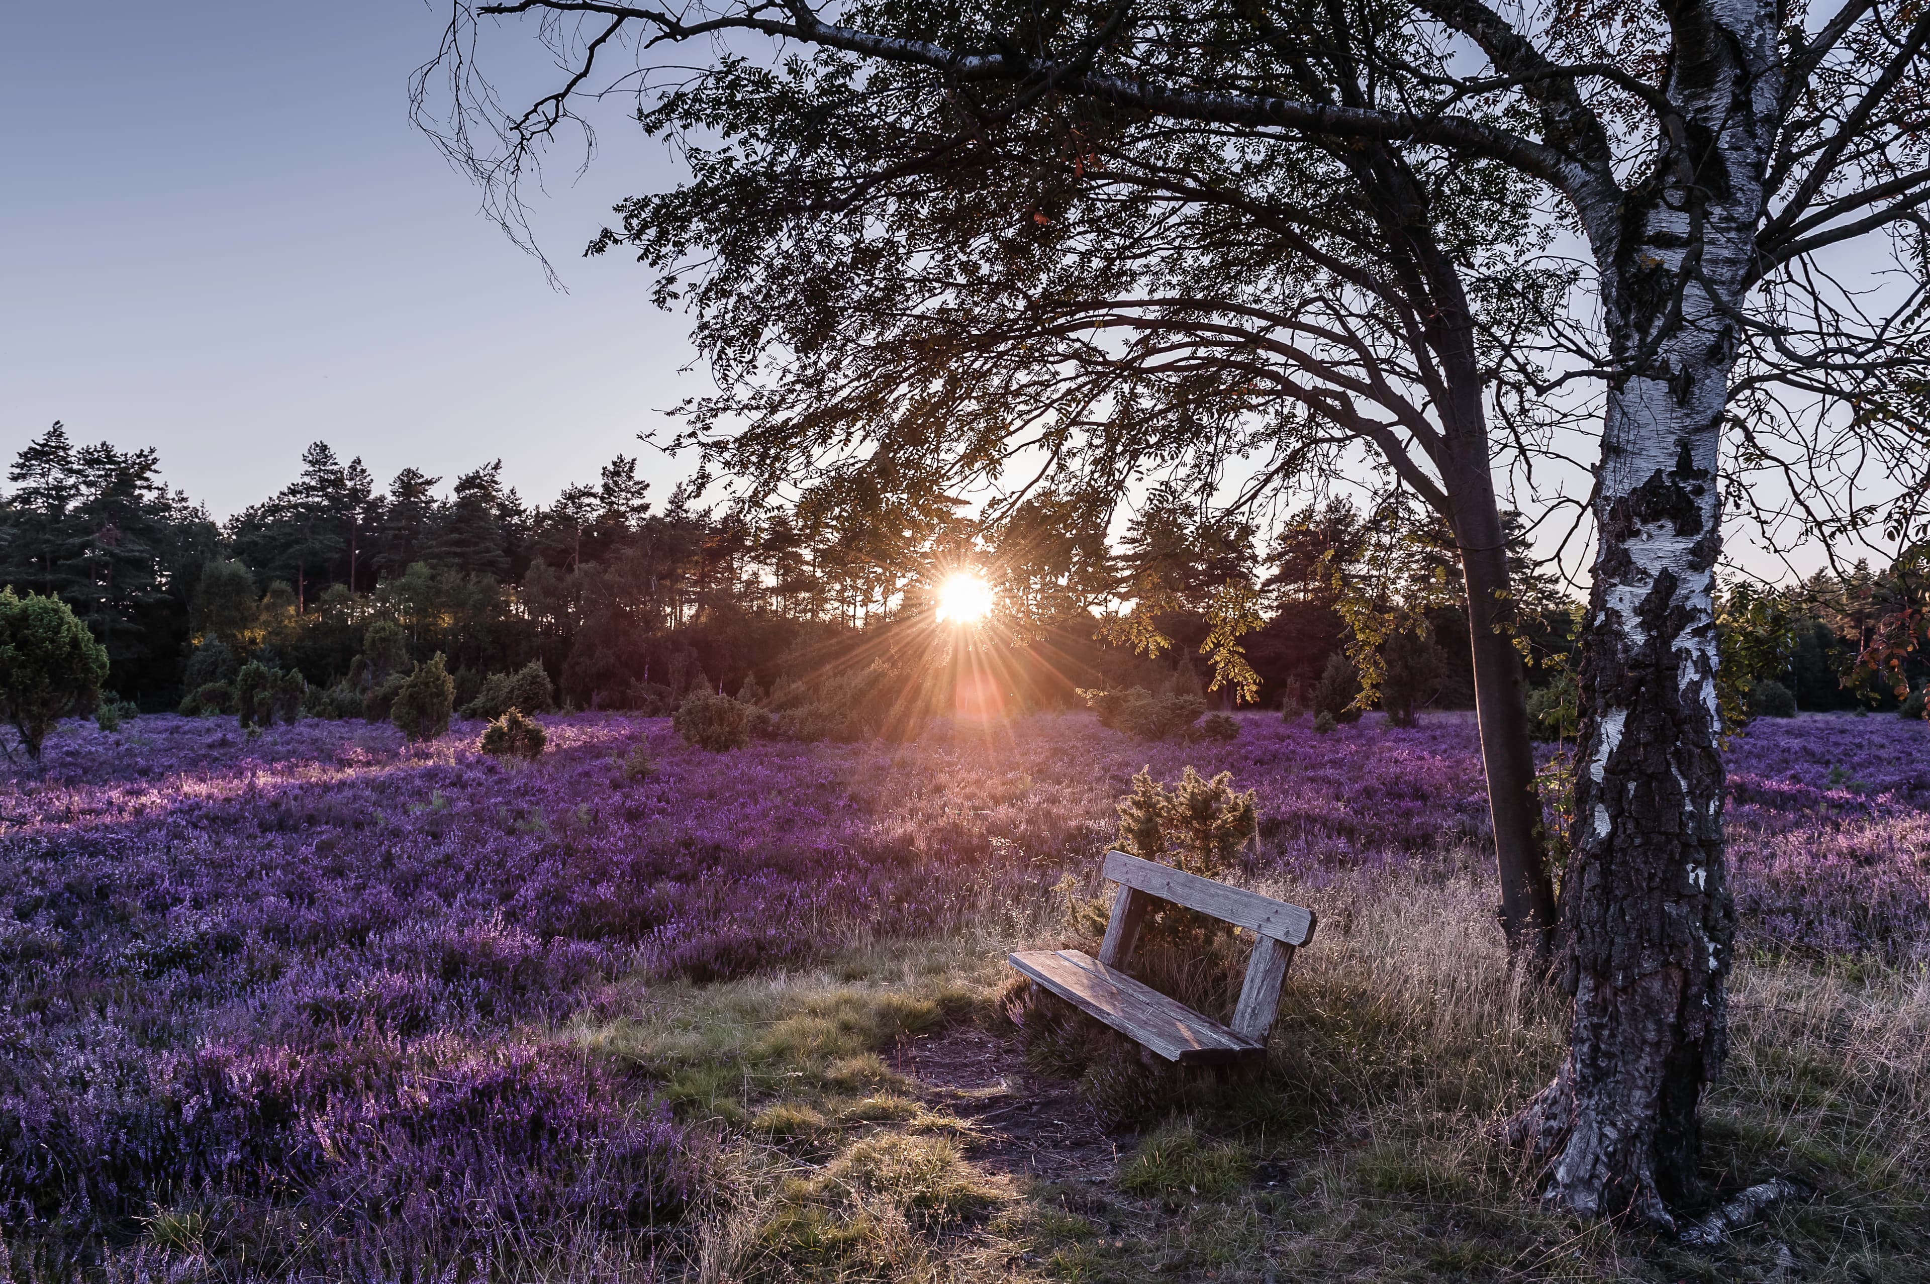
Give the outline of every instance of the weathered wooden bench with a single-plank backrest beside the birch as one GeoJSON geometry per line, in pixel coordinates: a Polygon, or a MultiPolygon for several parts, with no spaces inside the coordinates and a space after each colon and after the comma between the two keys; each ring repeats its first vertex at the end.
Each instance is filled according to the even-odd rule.
{"type": "Polygon", "coordinates": [[[1119,900],[1112,904],[1098,958],[1079,950],[1021,950],[1009,954],[1007,962],[1170,1062],[1226,1066],[1266,1056],[1280,987],[1287,979],[1293,950],[1314,938],[1314,911],[1125,851],[1106,853],[1104,875],[1108,882],[1119,884],[1119,900]],[[1133,954],[1139,925],[1146,921],[1154,900],[1208,913],[1254,935],[1231,1027],[1119,971],[1133,954]]]}

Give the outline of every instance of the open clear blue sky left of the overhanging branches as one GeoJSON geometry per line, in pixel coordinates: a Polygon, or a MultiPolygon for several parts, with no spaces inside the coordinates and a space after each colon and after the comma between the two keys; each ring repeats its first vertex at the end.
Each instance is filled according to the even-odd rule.
{"type": "MultiPolygon", "coordinates": [[[[706,384],[647,268],[581,259],[674,181],[621,122],[533,199],[567,293],[407,116],[423,0],[58,0],[0,10],[0,461],[54,419],[156,446],[216,517],[326,440],[378,479],[502,458],[531,500],[706,384]]],[[[496,41],[500,60],[533,41],[496,41]]],[[[513,70],[511,70],[513,71],[513,70]]],[[[658,487],[666,490],[668,485],[658,487]]]]}

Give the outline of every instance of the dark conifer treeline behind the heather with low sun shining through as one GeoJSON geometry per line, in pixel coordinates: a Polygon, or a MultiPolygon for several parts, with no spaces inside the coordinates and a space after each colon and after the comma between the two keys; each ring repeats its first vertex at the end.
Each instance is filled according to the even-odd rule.
{"type": "MultiPolygon", "coordinates": [[[[1264,703],[1312,689],[1345,635],[1343,585],[1415,604],[1430,624],[1428,701],[1471,701],[1451,541],[1399,510],[1330,502],[1262,531],[1156,490],[1114,541],[1104,516],[1050,492],[988,529],[944,502],[826,488],[751,517],[704,508],[683,485],[658,504],[621,456],[594,485],[531,506],[500,461],[448,485],[407,467],[382,487],[317,442],[295,481],[216,523],[160,481],[154,450],[75,446],[58,423],[8,481],[0,583],[66,599],[108,647],[112,689],[147,709],[172,707],[208,676],[197,670],[235,655],[332,685],[374,620],[400,624],[413,658],[444,653],[469,687],[538,660],[575,707],[627,707],[699,680],[770,685],[928,620],[930,587],[963,564],[994,581],[1011,666],[1038,670],[1015,684],[1027,701],[1156,682],[1152,662],[1096,641],[1100,612],[1158,585],[1170,670],[1227,583],[1262,595],[1264,626],[1245,649],[1264,703]],[[220,647],[197,655],[197,643],[220,647]]],[[[1540,672],[1567,645],[1569,606],[1527,560],[1517,577],[1540,672]]],[[[1834,676],[1855,653],[1855,620],[1778,618],[1799,622],[1789,674],[1805,707],[1847,703],[1834,676]]]]}

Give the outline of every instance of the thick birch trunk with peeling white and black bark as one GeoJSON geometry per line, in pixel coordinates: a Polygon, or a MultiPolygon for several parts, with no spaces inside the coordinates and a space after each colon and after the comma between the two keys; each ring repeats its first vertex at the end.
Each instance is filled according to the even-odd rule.
{"type": "Polygon", "coordinates": [[[1696,1104],[1722,1072],[1735,911],[1723,863],[1716,452],[1762,216],[1774,12],[1677,27],[1683,120],[1590,239],[1617,369],[1583,633],[1573,857],[1561,888],[1569,1054],[1513,1124],[1548,1197],[1673,1226],[1702,1197],[1696,1104]]]}

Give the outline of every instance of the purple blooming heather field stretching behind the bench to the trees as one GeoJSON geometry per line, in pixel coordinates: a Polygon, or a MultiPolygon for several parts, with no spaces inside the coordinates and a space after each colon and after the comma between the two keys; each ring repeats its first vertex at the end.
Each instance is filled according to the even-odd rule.
{"type": "MultiPolygon", "coordinates": [[[[481,724],[68,724],[0,782],[0,1222],[108,1228],[222,1189],[674,1220],[701,1135],[546,1039],[618,977],[710,981],[1040,902],[1090,869],[1131,772],[1258,790],[1254,873],[1318,906],[1347,871],[1478,869],[1467,714],[1143,745],[1089,714],[911,745],[704,753],[664,720],[546,718],[535,765],[481,724]],[[629,780],[647,743],[658,768],[629,780]]],[[[1758,722],[1729,753],[1745,942],[1920,958],[1930,726],[1758,722]]],[[[1357,875],[1351,875],[1357,877],[1357,875]]]]}

